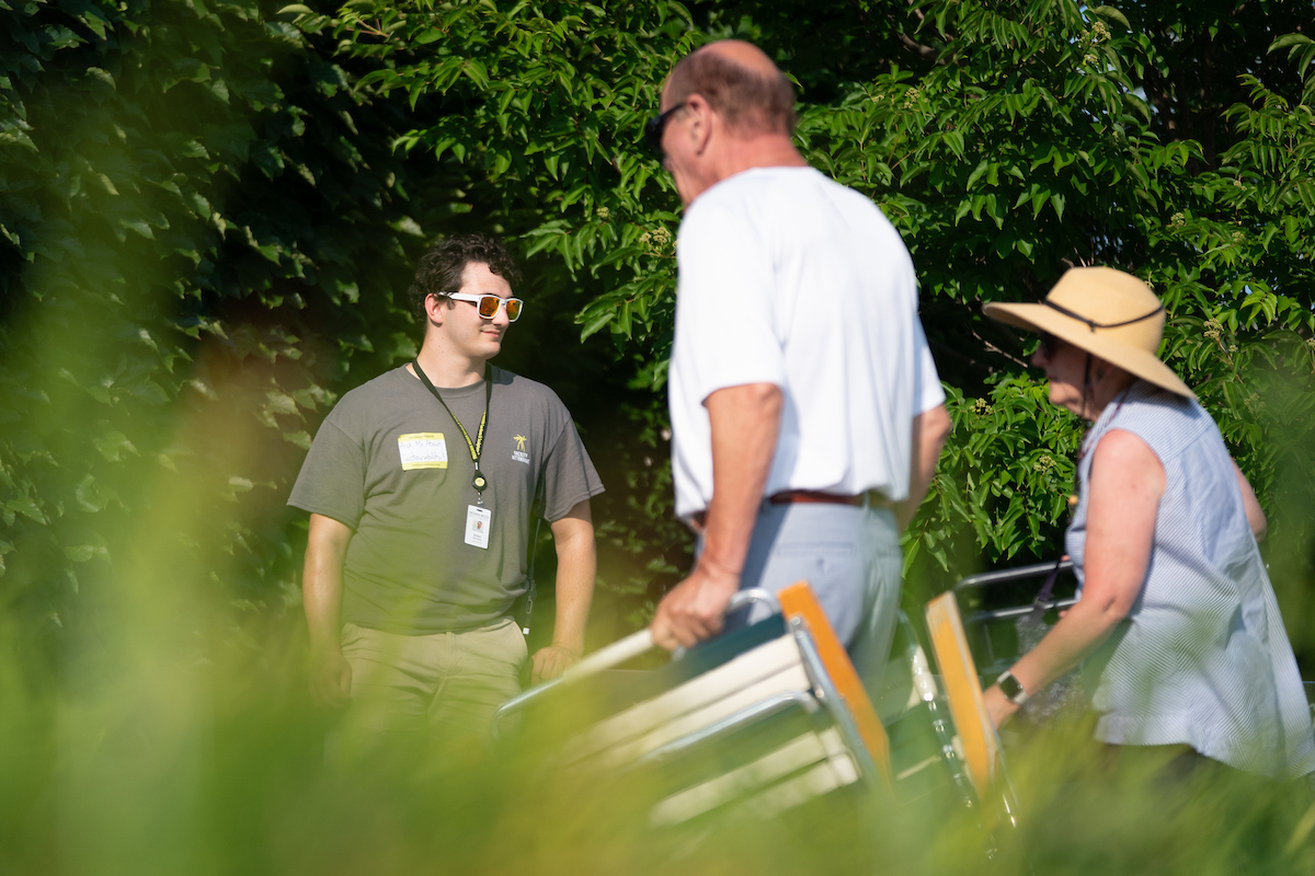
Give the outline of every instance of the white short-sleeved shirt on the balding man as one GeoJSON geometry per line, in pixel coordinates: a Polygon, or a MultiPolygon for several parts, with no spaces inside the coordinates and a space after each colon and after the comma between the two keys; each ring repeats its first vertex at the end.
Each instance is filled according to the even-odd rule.
{"type": "Polygon", "coordinates": [[[909,495],[911,427],[944,390],[913,260],[868,198],[813,168],[755,168],[686,210],[669,403],[676,514],[713,495],[704,401],[775,383],[785,406],[765,495],[909,495]]]}

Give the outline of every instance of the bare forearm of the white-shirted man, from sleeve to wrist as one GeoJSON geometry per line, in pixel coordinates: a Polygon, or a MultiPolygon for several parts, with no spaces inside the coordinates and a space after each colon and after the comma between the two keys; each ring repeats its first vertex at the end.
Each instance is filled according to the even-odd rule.
{"type": "Polygon", "coordinates": [[[713,498],[700,562],[738,575],[772,470],[781,390],[773,383],[731,386],[709,395],[704,406],[713,431],[713,498]]]}

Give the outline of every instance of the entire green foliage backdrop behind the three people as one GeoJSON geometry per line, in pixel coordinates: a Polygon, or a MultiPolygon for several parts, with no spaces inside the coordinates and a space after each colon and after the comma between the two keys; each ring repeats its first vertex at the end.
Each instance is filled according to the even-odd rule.
{"type": "Polygon", "coordinates": [[[425,240],[481,227],[527,256],[534,306],[504,364],[563,394],[611,487],[598,634],[642,617],[689,541],[663,401],[679,200],[638,134],[680,56],[743,35],[797,80],[807,159],[878,202],[919,269],[956,431],[907,541],[915,595],[1057,548],[1081,424],[980,302],[1114,264],[1165,297],[1166,355],[1272,511],[1302,640],[1310,18],[1064,0],[4,5],[5,604],[58,641],[175,483],[200,529],[158,537],[252,619],[293,604],[300,521],[281,502],[300,453],[337,394],[414,349],[398,293],[425,240]]]}

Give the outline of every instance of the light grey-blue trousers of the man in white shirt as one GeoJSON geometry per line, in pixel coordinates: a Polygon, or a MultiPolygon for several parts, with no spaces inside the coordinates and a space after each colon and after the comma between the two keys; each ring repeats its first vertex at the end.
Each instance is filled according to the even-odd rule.
{"type": "MultiPolygon", "coordinates": [[[[702,546],[700,538],[700,553],[702,546]]],[[[761,587],[777,592],[807,580],[876,701],[899,613],[902,574],[894,511],[764,502],[740,574],[740,590],[761,587]]],[[[767,608],[755,605],[738,612],[727,628],[761,620],[767,613],[767,608]]]]}

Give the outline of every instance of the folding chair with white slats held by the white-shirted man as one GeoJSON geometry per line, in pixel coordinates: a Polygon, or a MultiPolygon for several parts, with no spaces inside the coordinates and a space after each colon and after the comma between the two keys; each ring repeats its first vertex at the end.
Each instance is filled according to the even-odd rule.
{"type": "Polygon", "coordinates": [[[727,817],[761,820],[832,793],[884,792],[889,741],[848,655],[806,583],[780,596],[748,590],[772,609],[756,624],[689,649],[648,672],[608,670],[654,647],[648,630],[610,645],[505,703],[493,734],[522,713],[575,712],[596,720],[569,729],[558,766],[576,776],[639,774],[654,788],[652,827],[727,817]],[[598,714],[601,712],[601,714],[598,714]]]}

